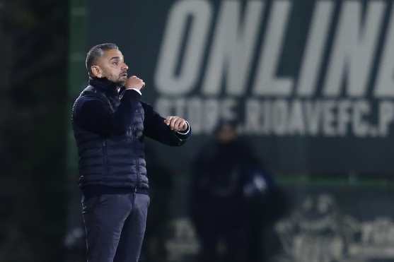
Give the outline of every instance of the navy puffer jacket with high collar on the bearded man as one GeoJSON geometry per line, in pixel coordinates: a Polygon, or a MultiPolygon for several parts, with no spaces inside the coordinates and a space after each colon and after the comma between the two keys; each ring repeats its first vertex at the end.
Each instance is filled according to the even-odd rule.
{"type": "Polygon", "coordinates": [[[91,79],[73,107],[79,153],[79,185],[149,189],[144,136],[182,145],[190,136],[171,131],[135,90],[91,79]]]}

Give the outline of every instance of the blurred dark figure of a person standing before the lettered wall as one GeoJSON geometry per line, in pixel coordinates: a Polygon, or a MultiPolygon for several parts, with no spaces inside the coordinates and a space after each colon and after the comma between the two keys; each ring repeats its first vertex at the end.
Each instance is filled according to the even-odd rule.
{"type": "Polygon", "coordinates": [[[237,136],[236,124],[223,121],[215,141],[197,155],[191,215],[202,246],[198,261],[261,261],[262,229],[272,177],[253,150],[237,136]]]}

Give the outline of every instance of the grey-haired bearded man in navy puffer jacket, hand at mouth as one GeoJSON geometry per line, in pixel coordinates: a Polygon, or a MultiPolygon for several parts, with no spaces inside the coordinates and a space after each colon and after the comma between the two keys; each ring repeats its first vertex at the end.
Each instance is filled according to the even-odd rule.
{"type": "Polygon", "coordinates": [[[141,102],[145,83],[127,76],[116,44],[86,56],[89,85],[73,107],[88,262],[137,262],[149,206],[144,136],[182,145],[190,126],[141,102]]]}

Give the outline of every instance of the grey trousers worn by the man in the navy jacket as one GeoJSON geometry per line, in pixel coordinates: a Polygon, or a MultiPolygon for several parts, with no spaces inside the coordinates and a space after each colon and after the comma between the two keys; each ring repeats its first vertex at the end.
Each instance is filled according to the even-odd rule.
{"type": "Polygon", "coordinates": [[[149,201],[143,193],[82,198],[88,262],[137,262],[149,201]]]}

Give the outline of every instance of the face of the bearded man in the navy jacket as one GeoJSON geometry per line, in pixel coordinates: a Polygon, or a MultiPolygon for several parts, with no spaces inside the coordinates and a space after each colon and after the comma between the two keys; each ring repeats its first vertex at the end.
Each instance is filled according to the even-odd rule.
{"type": "Polygon", "coordinates": [[[127,80],[127,69],[122,52],[118,49],[106,50],[92,66],[93,75],[108,78],[109,81],[124,85],[127,80]]]}

